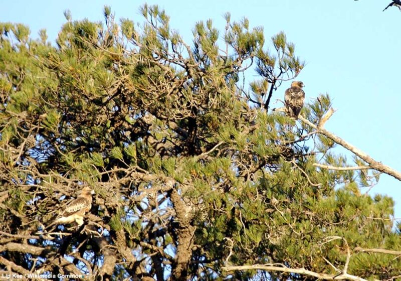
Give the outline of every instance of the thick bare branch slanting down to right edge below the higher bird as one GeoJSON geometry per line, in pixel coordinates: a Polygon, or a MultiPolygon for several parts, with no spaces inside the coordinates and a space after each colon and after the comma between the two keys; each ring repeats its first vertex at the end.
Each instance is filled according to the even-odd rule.
{"type": "Polygon", "coordinates": [[[360,159],[362,159],[363,161],[368,163],[369,167],[371,169],[374,169],[374,170],[377,170],[379,172],[385,173],[385,174],[390,175],[390,176],[396,178],[397,180],[401,181],[401,173],[399,173],[398,171],[396,171],[396,170],[394,170],[394,169],[382,164],[381,162],[378,162],[378,161],[374,160],[373,158],[371,158],[369,155],[367,155],[363,151],[361,151],[358,148],[352,146],[351,144],[345,142],[344,139],[336,136],[335,134],[329,132],[328,130],[326,130],[326,129],[322,128],[322,127],[318,128],[315,124],[313,124],[309,120],[305,119],[304,117],[299,116],[299,119],[302,122],[306,123],[307,125],[311,126],[312,128],[316,129],[316,131],[318,133],[327,136],[328,138],[330,138],[336,144],[342,146],[343,148],[346,148],[347,150],[349,150],[350,152],[352,152],[353,154],[358,156],[360,159]]]}

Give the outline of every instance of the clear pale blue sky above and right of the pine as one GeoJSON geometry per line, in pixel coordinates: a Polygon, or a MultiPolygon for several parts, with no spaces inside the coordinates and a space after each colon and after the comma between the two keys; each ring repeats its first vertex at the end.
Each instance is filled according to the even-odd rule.
{"type": "MultiPolygon", "coordinates": [[[[213,19],[224,30],[223,15],[232,20],[247,17],[251,27],[263,26],[266,38],[284,31],[295,43],[296,54],[307,62],[298,76],[307,98],[329,93],[337,111],[326,128],[368,153],[375,160],[401,171],[401,12],[390,0],[341,1],[148,1],[171,17],[171,28],[190,42],[195,22],[213,19]],[[400,80],[398,80],[400,79],[400,80]]],[[[103,6],[110,5],[116,19],[142,22],[142,1],[22,1],[2,3],[0,21],[29,25],[33,36],[45,28],[54,42],[65,23],[63,11],[73,20],[103,20],[103,6]]],[[[267,40],[268,42],[268,40],[267,40]]],[[[256,74],[256,73],[255,73],[256,74]]],[[[284,85],[273,99],[282,98],[284,85]]],[[[363,190],[362,190],[363,191],[363,190]]],[[[370,193],[391,195],[395,217],[401,217],[401,182],[382,175],[370,193]]]]}

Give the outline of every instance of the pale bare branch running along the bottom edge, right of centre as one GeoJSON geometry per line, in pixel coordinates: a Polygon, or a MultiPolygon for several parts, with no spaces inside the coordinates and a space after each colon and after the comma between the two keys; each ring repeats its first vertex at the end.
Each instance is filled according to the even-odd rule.
{"type": "Polygon", "coordinates": [[[279,271],[279,272],[287,272],[287,273],[297,273],[302,275],[312,276],[322,280],[356,280],[356,281],[367,281],[361,277],[351,275],[348,273],[338,274],[326,274],[326,273],[317,273],[314,271],[310,271],[304,268],[288,268],[283,266],[275,266],[273,264],[265,264],[265,265],[243,265],[243,266],[226,266],[222,267],[223,270],[226,271],[235,271],[235,270],[268,270],[268,271],[279,271]]]}

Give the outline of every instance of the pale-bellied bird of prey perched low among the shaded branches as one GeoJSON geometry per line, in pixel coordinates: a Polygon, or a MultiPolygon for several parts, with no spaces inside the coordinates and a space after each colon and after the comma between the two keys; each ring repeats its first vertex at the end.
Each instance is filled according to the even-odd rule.
{"type": "Polygon", "coordinates": [[[76,222],[79,226],[84,223],[84,215],[92,207],[92,194],[95,191],[86,186],[82,189],[81,194],[69,203],[60,214],[60,217],[54,220],[46,228],[55,224],[67,224],[76,222]]]}

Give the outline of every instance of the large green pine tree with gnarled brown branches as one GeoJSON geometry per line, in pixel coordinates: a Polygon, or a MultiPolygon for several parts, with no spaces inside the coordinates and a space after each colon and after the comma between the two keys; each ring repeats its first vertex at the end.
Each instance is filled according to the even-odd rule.
{"type": "Polygon", "coordinates": [[[57,46],[0,24],[0,273],[399,277],[394,201],[366,190],[400,174],[324,129],[328,95],[300,120],[269,110],[304,66],[285,34],[226,14],[189,44],[157,6],[140,11],[66,11],[57,46]],[[82,183],[96,192],[84,224],[46,231],[82,183]]]}

